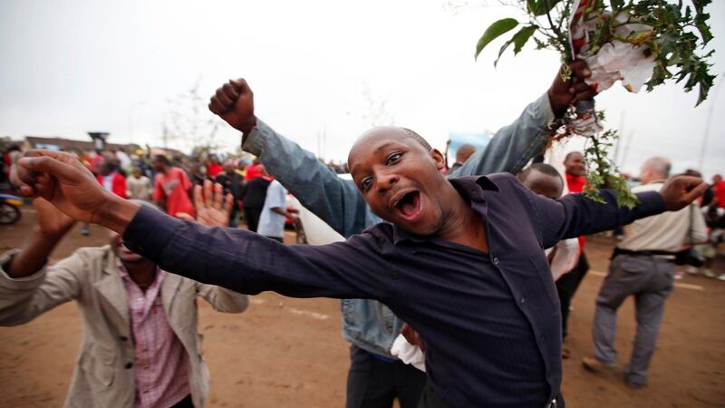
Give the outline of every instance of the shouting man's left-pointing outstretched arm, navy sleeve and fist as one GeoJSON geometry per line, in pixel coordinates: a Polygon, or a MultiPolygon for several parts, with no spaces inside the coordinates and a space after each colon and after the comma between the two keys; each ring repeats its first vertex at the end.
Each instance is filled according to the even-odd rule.
{"type": "MultiPolygon", "coordinates": [[[[241,229],[208,228],[109,193],[68,153],[31,151],[12,180],[73,218],[123,234],[124,244],[169,272],[241,293],[385,298],[390,267],[372,234],[327,246],[285,246],[241,229]]],[[[220,207],[222,199],[205,205],[220,207]]],[[[200,211],[201,212],[201,211],[200,211]]]]}

